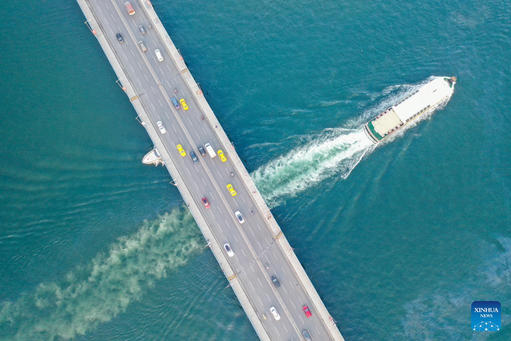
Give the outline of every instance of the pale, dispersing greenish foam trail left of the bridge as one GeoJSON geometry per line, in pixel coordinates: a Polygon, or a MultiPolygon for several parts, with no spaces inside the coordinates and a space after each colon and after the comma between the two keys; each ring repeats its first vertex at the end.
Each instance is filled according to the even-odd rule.
{"type": "Polygon", "coordinates": [[[175,209],[145,222],[106,255],[69,272],[60,282],[42,283],[0,309],[0,339],[70,339],[108,322],[139,300],[153,282],[203,249],[188,210],[175,209]]]}

